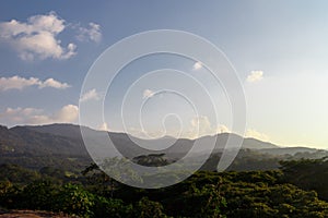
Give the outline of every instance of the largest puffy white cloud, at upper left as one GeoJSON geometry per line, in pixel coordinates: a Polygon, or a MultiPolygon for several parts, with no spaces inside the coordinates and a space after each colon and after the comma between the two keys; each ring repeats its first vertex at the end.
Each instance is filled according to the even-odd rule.
{"type": "Polygon", "coordinates": [[[0,38],[9,43],[23,60],[69,59],[75,55],[77,46],[72,43],[67,47],[61,45],[57,36],[65,28],[65,20],[50,12],[31,16],[27,22],[1,22],[0,38]]]}

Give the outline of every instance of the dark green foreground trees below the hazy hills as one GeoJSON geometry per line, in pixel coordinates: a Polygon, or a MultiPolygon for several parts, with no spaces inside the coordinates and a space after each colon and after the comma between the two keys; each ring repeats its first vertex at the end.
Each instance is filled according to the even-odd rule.
{"type": "MultiPolygon", "coordinates": [[[[143,159],[143,158],[142,158],[143,159]]],[[[80,174],[2,165],[0,207],[81,217],[328,217],[328,161],[282,161],[280,170],[200,171],[173,186],[120,184],[91,165],[80,174]]]]}

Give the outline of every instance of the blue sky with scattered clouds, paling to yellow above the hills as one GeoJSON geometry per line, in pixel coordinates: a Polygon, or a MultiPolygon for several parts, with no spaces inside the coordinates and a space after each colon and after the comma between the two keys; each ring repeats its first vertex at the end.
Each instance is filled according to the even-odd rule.
{"type": "Polygon", "coordinates": [[[233,66],[246,102],[238,134],[327,149],[327,10],[324,0],[2,1],[0,123],[79,123],[80,104],[104,99],[103,122],[94,122],[99,114],[85,118],[91,128],[140,137],[231,132],[224,84],[186,57],[142,57],[119,72],[108,93],[81,93],[108,47],[142,32],[175,29],[211,41],[233,66]]]}

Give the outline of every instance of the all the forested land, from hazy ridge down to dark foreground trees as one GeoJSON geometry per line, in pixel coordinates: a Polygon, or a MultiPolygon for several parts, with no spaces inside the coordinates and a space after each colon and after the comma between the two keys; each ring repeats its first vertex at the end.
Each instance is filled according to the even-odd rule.
{"type": "MultiPolygon", "coordinates": [[[[87,131],[95,143],[104,134],[87,131]]],[[[143,154],[129,149],[133,146],[129,135],[108,134],[120,149],[129,150],[127,158],[142,166],[168,165],[192,145],[178,140],[173,149],[143,154]]],[[[327,150],[246,138],[227,171],[216,172],[220,146],[227,136],[218,135],[208,161],[184,182],[144,190],[101,171],[89,157],[78,125],[1,126],[0,214],[28,209],[80,217],[328,217],[327,150]]],[[[172,138],[148,143],[166,140],[172,138]]],[[[200,140],[206,146],[208,137],[200,140]]],[[[161,174],[154,181],[160,182],[161,174]]]]}

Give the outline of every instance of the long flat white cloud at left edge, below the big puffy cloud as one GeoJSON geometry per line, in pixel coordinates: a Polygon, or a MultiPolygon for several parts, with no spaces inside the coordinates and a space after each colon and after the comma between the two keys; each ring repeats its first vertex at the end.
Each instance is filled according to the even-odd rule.
{"type": "Polygon", "coordinates": [[[28,86],[38,86],[38,88],[52,87],[58,89],[65,89],[70,87],[67,83],[58,82],[54,78],[48,78],[46,81],[40,81],[36,77],[24,78],[17,75],[12,77],[0,77],[0,90],[9,89],[23,89],[28,86]]]}

